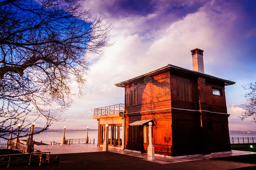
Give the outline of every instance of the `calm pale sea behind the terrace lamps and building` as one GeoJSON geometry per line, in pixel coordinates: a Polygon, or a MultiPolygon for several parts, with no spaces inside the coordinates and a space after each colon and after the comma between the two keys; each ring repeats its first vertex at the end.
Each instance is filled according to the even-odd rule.
{"type": "MultiPolygon", "coordinates": [[[[63,137],[63,130],[53,130],[48,129],[46,131],[41,132],[40,134],[36,134],[33,136],[36,142],[51,144],[51,142],[61,143],[63,137]]],[[[98,130],[97,129],[89,129],[88,130],[89,139],[95,139],[95,143],[97,143],[98,139],[98,130]]],[[[256,137],[256,133],[229,133],[229,137],[256,137]]],[[[66,139],[85,139],[86,138],[86,130],[68,130],[65,131],[66,139]]],[[[27,139],[27,137],[20,138],[27,139]]]]}

